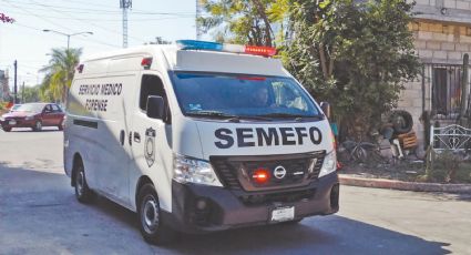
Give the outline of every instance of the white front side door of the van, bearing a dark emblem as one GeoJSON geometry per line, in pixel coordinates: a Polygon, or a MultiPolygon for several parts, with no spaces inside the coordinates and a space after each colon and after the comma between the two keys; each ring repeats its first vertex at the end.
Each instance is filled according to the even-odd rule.
{"type": "MultiPolygon", "coordinates": [[[[167,108],[167,120],[150,119],[146,115],[149,95],[158,95],[167,102],[161,75],[155,72],[142,74],[139,99],[133,113],[130,141],[134,161],[131,161],[131,185],[136,184],[141,175],[147,175],[153,182],[160,197],[161,208],[171,212],[171,178],[172,150],[171,150],[171,120],[167,108]],[[158,183],[156,183],[158,182],[158,183]]],[[[168,103],[166,103],[168,105],[168,103]]],[[[134,195],[135,186],[130,186],[130,195],[134,195]]]]}

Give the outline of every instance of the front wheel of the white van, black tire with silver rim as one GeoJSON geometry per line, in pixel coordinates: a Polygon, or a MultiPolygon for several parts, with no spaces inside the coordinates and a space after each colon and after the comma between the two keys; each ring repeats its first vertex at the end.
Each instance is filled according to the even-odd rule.
{"type": "Polygon", "coordinates": [[[167,244],[176,238],[176,232],[162,222],[158,196],[152,184],[141,187],[137,196],[137,218],[142,236],[151,244],[167,244]]]}

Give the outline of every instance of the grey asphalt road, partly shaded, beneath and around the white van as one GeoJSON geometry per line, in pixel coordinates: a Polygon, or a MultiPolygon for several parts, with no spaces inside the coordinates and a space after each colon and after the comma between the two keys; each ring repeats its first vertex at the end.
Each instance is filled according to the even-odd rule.
{"type": "Polygon", "coordinates": [[[340,212],[146,244],[135,215],[75,201],[62,132],[0,130],[0,254],[471,254],[465,195],[341,186],[340,212]]]}

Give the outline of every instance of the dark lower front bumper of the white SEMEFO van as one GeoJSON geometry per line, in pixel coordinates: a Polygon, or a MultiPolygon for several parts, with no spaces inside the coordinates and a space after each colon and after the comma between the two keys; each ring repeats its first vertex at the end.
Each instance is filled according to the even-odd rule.
{"type": "Polygon", "coordinates": [[[295,218],[328,215],[339,210],[337,173],[303,188],[272,192],[232,191],[197,184],[172,183],[172,213],[162,212],[163,222],[184,233],[223,231],[268,225],[274,208],[295,207],[295,218]],[[254,198],[255,197],[255,198],[254,198]]]}

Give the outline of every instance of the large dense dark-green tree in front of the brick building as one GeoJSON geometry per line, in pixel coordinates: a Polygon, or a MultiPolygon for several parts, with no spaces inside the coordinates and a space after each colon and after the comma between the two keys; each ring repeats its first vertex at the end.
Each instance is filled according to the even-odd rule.
{"type": "Polygon", "coordinates": [[[413,4],[358,2],[290,0],[294,39],[281,53],[313,95],[332,103],[347,134],[375,128],[420,67],[408,29],[413,4]]]}

